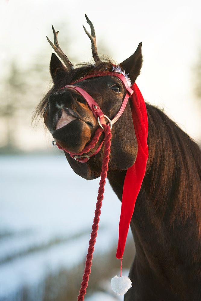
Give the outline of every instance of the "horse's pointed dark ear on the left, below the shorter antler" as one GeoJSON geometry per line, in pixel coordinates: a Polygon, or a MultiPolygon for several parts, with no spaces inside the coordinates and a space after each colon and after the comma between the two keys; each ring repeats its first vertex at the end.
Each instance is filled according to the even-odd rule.
{"type": "Polygon", "coordinates": [[[49,69],[54,83],[61,80],[67,73],[66,67],[54,53],[52,53],[49,69]]]}

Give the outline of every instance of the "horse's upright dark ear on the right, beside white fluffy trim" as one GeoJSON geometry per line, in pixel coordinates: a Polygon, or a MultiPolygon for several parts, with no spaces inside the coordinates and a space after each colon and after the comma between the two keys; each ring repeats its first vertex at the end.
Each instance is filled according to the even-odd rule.
{"type": "Polygon", "coordinates": [[[142,43],[140,43],[136,51],[120,64],[122,70],[125,70],[126,74],[129,74],[130,81],[132,84],[140,74],[142,62],[142,43]]]}

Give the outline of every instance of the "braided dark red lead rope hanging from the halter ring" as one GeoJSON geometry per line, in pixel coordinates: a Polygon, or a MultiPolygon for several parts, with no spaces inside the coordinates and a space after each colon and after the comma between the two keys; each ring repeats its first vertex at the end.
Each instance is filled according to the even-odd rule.
{"type": "MultiPolygon", "coordinates": [[[[86,288],[88,286],[89,275],[91,273],[94,245],[96,243],[97,231],[98,231],[98,228],[99,228],[99,226],[98,226],[99,220],[100,220],[99,216],[101,214],[100,209],[101,209],[101,206],[102,206],[103,194],[104,194],[104,191],[105,191],[105,189],[104,189],[105,179],[107,177],[107,171],[108,171],[108,162],[109,162],[110,146],[111,146],[111,131],[110,131],[110,126],[108,126],[108,125],[102,125],[102,126],[103,126],[104,132],[105,132],[105,141],[104,141],[105,150],[104,150],[104,157],[103,157],[103,161],[102,161],[102,171],[101,171],[101,175],[100,175],[101,179],[100,179],[100,182],[99,182],[99,192],[98,192],[98,197],[97,197],[98,201],[96,203],[95,217],[93,219],[93,226],[92,226],[92,232],[91,232],[91,239],[89,241],[88,254],[86,255],[83,281],[81,283],[80,294],[77,297],[78,301],[83,301],[84,300],[84,295],[86,294],[86,288]]],[[[100,132],[100,134],[101,134],[101,132],[100,132]]],[[[94,136],[94,138],[95,138],[95,136],[94,136]]],[[[93,141],[93,143],[94,143],[94,141],[93,141]]],[[[86,152],[86,150],[85,150],[85,152],[86,152]]],[[[82,154],[83,154],[83,152],[82,152],[82,154]]]]}

